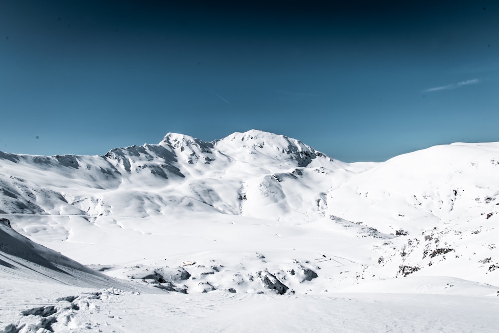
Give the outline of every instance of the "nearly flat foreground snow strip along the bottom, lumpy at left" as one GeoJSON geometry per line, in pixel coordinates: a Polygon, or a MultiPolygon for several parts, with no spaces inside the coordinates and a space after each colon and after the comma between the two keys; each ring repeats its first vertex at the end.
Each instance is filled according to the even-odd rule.
{"type": "MultiPolygon", "coordinates": [[[[40,289],[45,286],[41,284],[40,289]]],[[[21,330],[44,326],[53,332],[109,333],[498,331],[499,305],[492,297],[372,293],[298,296],[220,291],[154,295],[116,289],[75,294],[66,286],[57,295],[60,292],[66,292],[64,297],[45,305],[54,307],[53,314],[22,315],[9,328],[24,325],[21,330]],[[78,310],[71,309],[75,305],[78,310]]],[[[41,296],[46,297],[46,293],[41,296]]],[[[19,296],[24,299],[26,295],[19,296]]]]}

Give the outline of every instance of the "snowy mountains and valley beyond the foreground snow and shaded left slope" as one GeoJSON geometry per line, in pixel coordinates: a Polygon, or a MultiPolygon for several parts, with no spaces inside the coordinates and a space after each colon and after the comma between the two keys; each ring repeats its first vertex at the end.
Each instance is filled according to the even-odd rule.
{"type": "Polygon", "coordinates": [[[499,143],[344,163],[257,130],[212,142],[169,133],[104,156],[0,152],[0,191],[0,217],[22,235],[167,291],[499,284],[499,143]]]}

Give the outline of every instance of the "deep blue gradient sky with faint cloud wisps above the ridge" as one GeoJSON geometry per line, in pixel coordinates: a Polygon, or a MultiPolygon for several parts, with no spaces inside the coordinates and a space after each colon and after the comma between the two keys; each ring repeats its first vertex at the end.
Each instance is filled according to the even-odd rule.
{"type": "Polygon", "coordinates": [[[499,141],[499,1],[233,2],[0,0],[0,150],[255,128],[352,162],[499,141]]]}

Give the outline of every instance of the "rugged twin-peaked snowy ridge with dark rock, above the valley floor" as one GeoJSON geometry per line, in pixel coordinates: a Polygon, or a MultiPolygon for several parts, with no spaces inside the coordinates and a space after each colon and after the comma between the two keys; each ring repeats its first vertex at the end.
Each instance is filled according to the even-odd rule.
{"type": "Polygon", "coordinates": [[[214,142],[170,133],[157,145],[105,156],[0,158],[0,212],[90,217],[162,215],[180,201],[188,210],[209,206],[252,217],[266,216],[265,207],[274,216],[315,212],[322,192],[355,169],[298,140],[260,131],[214,142]]]}

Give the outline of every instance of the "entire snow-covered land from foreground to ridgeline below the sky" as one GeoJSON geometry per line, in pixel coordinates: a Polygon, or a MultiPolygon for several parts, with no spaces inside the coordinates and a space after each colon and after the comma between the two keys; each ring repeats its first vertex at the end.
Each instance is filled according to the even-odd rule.
{"type": "Polygon", "coordinates": [[[0,152],[0,191],[5,332],[499,331],[499,143],[348,164],[170,133],[0,152]]]}

